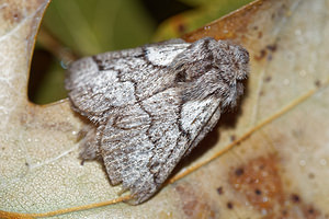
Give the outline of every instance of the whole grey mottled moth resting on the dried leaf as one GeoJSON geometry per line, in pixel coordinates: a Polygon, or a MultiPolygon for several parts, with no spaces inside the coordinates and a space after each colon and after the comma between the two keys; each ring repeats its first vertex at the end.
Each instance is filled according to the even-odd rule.
{"type": "Polygon", "coordinates": [[[248,51],[211,37],[172,39],[75,61],[66,89],[90,125],[82,160],[101,159],[112,185],[148,200],[179,161],[235,106],[248,51]]]}

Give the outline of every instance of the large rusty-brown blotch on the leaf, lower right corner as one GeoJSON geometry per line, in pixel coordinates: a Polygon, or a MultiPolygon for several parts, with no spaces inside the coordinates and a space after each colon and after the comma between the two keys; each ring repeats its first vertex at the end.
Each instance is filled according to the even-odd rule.
{"type": "Polygon", "coordinates": [[[229,173],[229,183],[263,215],[263,218],[300,218],[303,216],[302,218],[314,219],[321,216],[317,208],[305,204],[297,193],[287,194],[281,180],[277,162],[274,154],[252,159],[229,173]]]}

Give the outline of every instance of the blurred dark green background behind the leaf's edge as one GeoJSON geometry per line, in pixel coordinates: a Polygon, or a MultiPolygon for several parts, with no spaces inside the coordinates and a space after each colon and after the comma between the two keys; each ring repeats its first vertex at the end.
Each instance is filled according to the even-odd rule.
{"type": "Polygon", "coordinates": [[[251,0],[53,0],[34,51],[29,99],[67,96],[66,66],[80,57],[179,37],[251,0]]]}

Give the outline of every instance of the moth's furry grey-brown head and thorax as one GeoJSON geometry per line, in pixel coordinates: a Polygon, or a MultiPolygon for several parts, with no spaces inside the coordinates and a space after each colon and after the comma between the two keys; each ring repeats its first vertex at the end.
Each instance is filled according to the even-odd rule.
{"type": "Polygon", "coordinates": [[[185,88],[186,100],[213,95],[225,107],[235,105],[243,92],[249,54],[231,42],[206,37],[192,43],[175,58],[172,68],[175,81],[185,88]]]}

